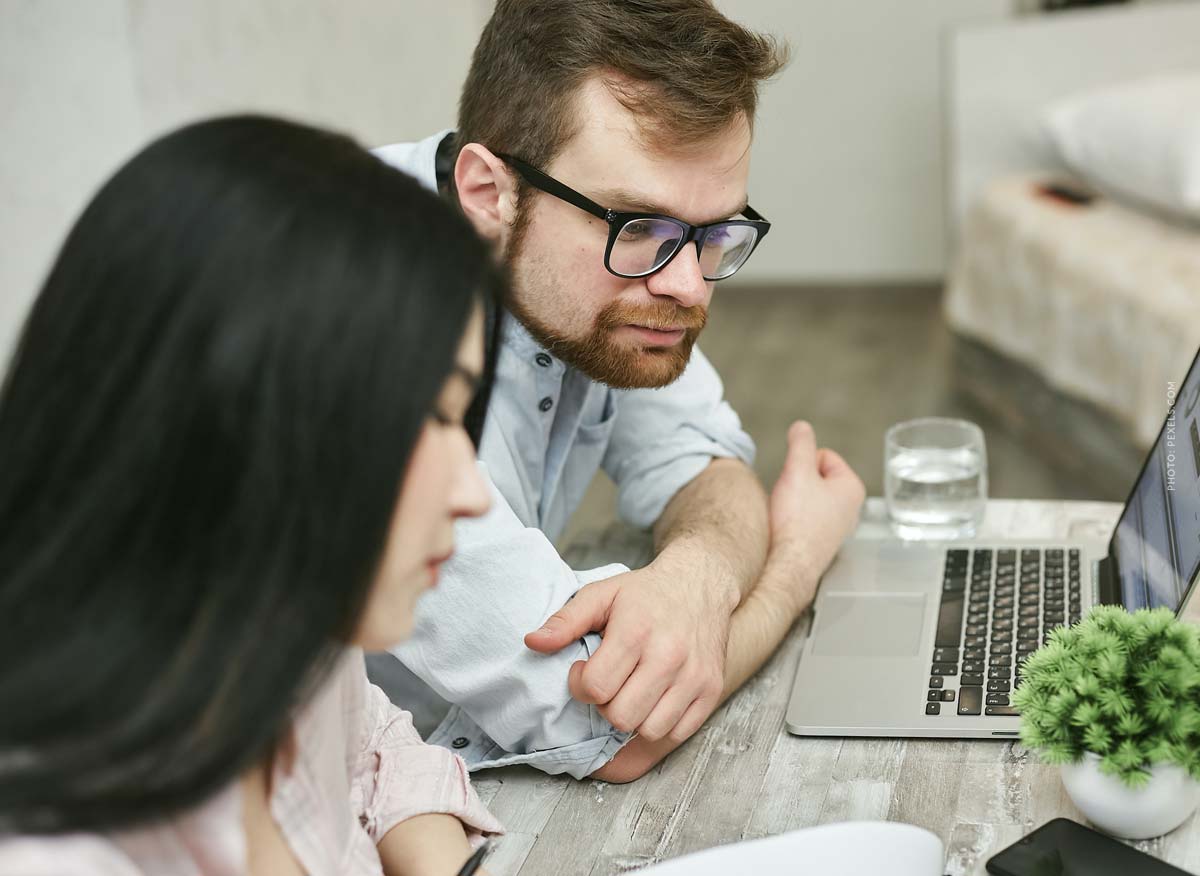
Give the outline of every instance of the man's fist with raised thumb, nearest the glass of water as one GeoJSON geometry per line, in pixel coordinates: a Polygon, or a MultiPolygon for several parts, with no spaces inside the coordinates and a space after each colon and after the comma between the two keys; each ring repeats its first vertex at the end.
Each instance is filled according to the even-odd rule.
{"type": "Polygon", "coordinates": [[[760,586],[769,583],[778,595],[794,600],[797,614],[804,611],[821,575],[858,524],[865,498],[863,481],[846,461],[828,448],[817,449],[809,424],[793,422],[784,470],[769,500],[767,564],[786,574],[764,576],[760,586]]]}

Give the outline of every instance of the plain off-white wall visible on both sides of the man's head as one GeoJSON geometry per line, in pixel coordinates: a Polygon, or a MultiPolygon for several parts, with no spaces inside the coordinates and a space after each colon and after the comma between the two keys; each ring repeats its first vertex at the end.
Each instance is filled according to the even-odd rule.
{"type": "MultiPolygon", "coordinates": [[[[1015,0],[718,0],[784,36],[744,281],[941,274],[938,66],[952,22],[1015,0]]],[[[367,144],[449,126],[490,0],[0,0],[0,354],[74,216],[149,138],[258,109],[367,144]]]]}

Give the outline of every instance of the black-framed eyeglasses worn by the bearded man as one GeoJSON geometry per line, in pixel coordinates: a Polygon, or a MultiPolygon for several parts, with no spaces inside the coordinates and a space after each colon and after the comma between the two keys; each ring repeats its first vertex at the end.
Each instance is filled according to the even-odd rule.
{"type": "Polygon", "coordinates": [[[770,222],[749,204],[742,211],[746,218],[707,226],[692,226],[656,212],[617,212],[600,206],[521,158],[502,152],[496,156],[511,164],[534,188],[607,222],[608,246],[604,251],[604,266],[618,277],[648,277],[666,268],[684,246],[695,242],[704,280],[725,280],[746,263],[758,241],[770,230],[770,222]]]}

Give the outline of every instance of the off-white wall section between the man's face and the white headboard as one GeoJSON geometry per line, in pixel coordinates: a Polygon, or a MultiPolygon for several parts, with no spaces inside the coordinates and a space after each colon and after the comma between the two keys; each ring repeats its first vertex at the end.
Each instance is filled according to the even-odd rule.
{"type": "Polygon", "coordinates": [[[944,265],[946,29],[1013,0],[726,0],[787,38],[763,92],[750,203],[775,227],[742,282],[929,280],[944,265]]]}

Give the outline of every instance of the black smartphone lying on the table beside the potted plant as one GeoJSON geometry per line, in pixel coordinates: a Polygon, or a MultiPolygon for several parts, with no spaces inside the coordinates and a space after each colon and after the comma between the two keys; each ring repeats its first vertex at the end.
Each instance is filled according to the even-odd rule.
{"type": "Polygon", "coordinates": [[[1048,821],[988,862],[994,876],[1190,876],[1069,818],[1048,821]]]}

